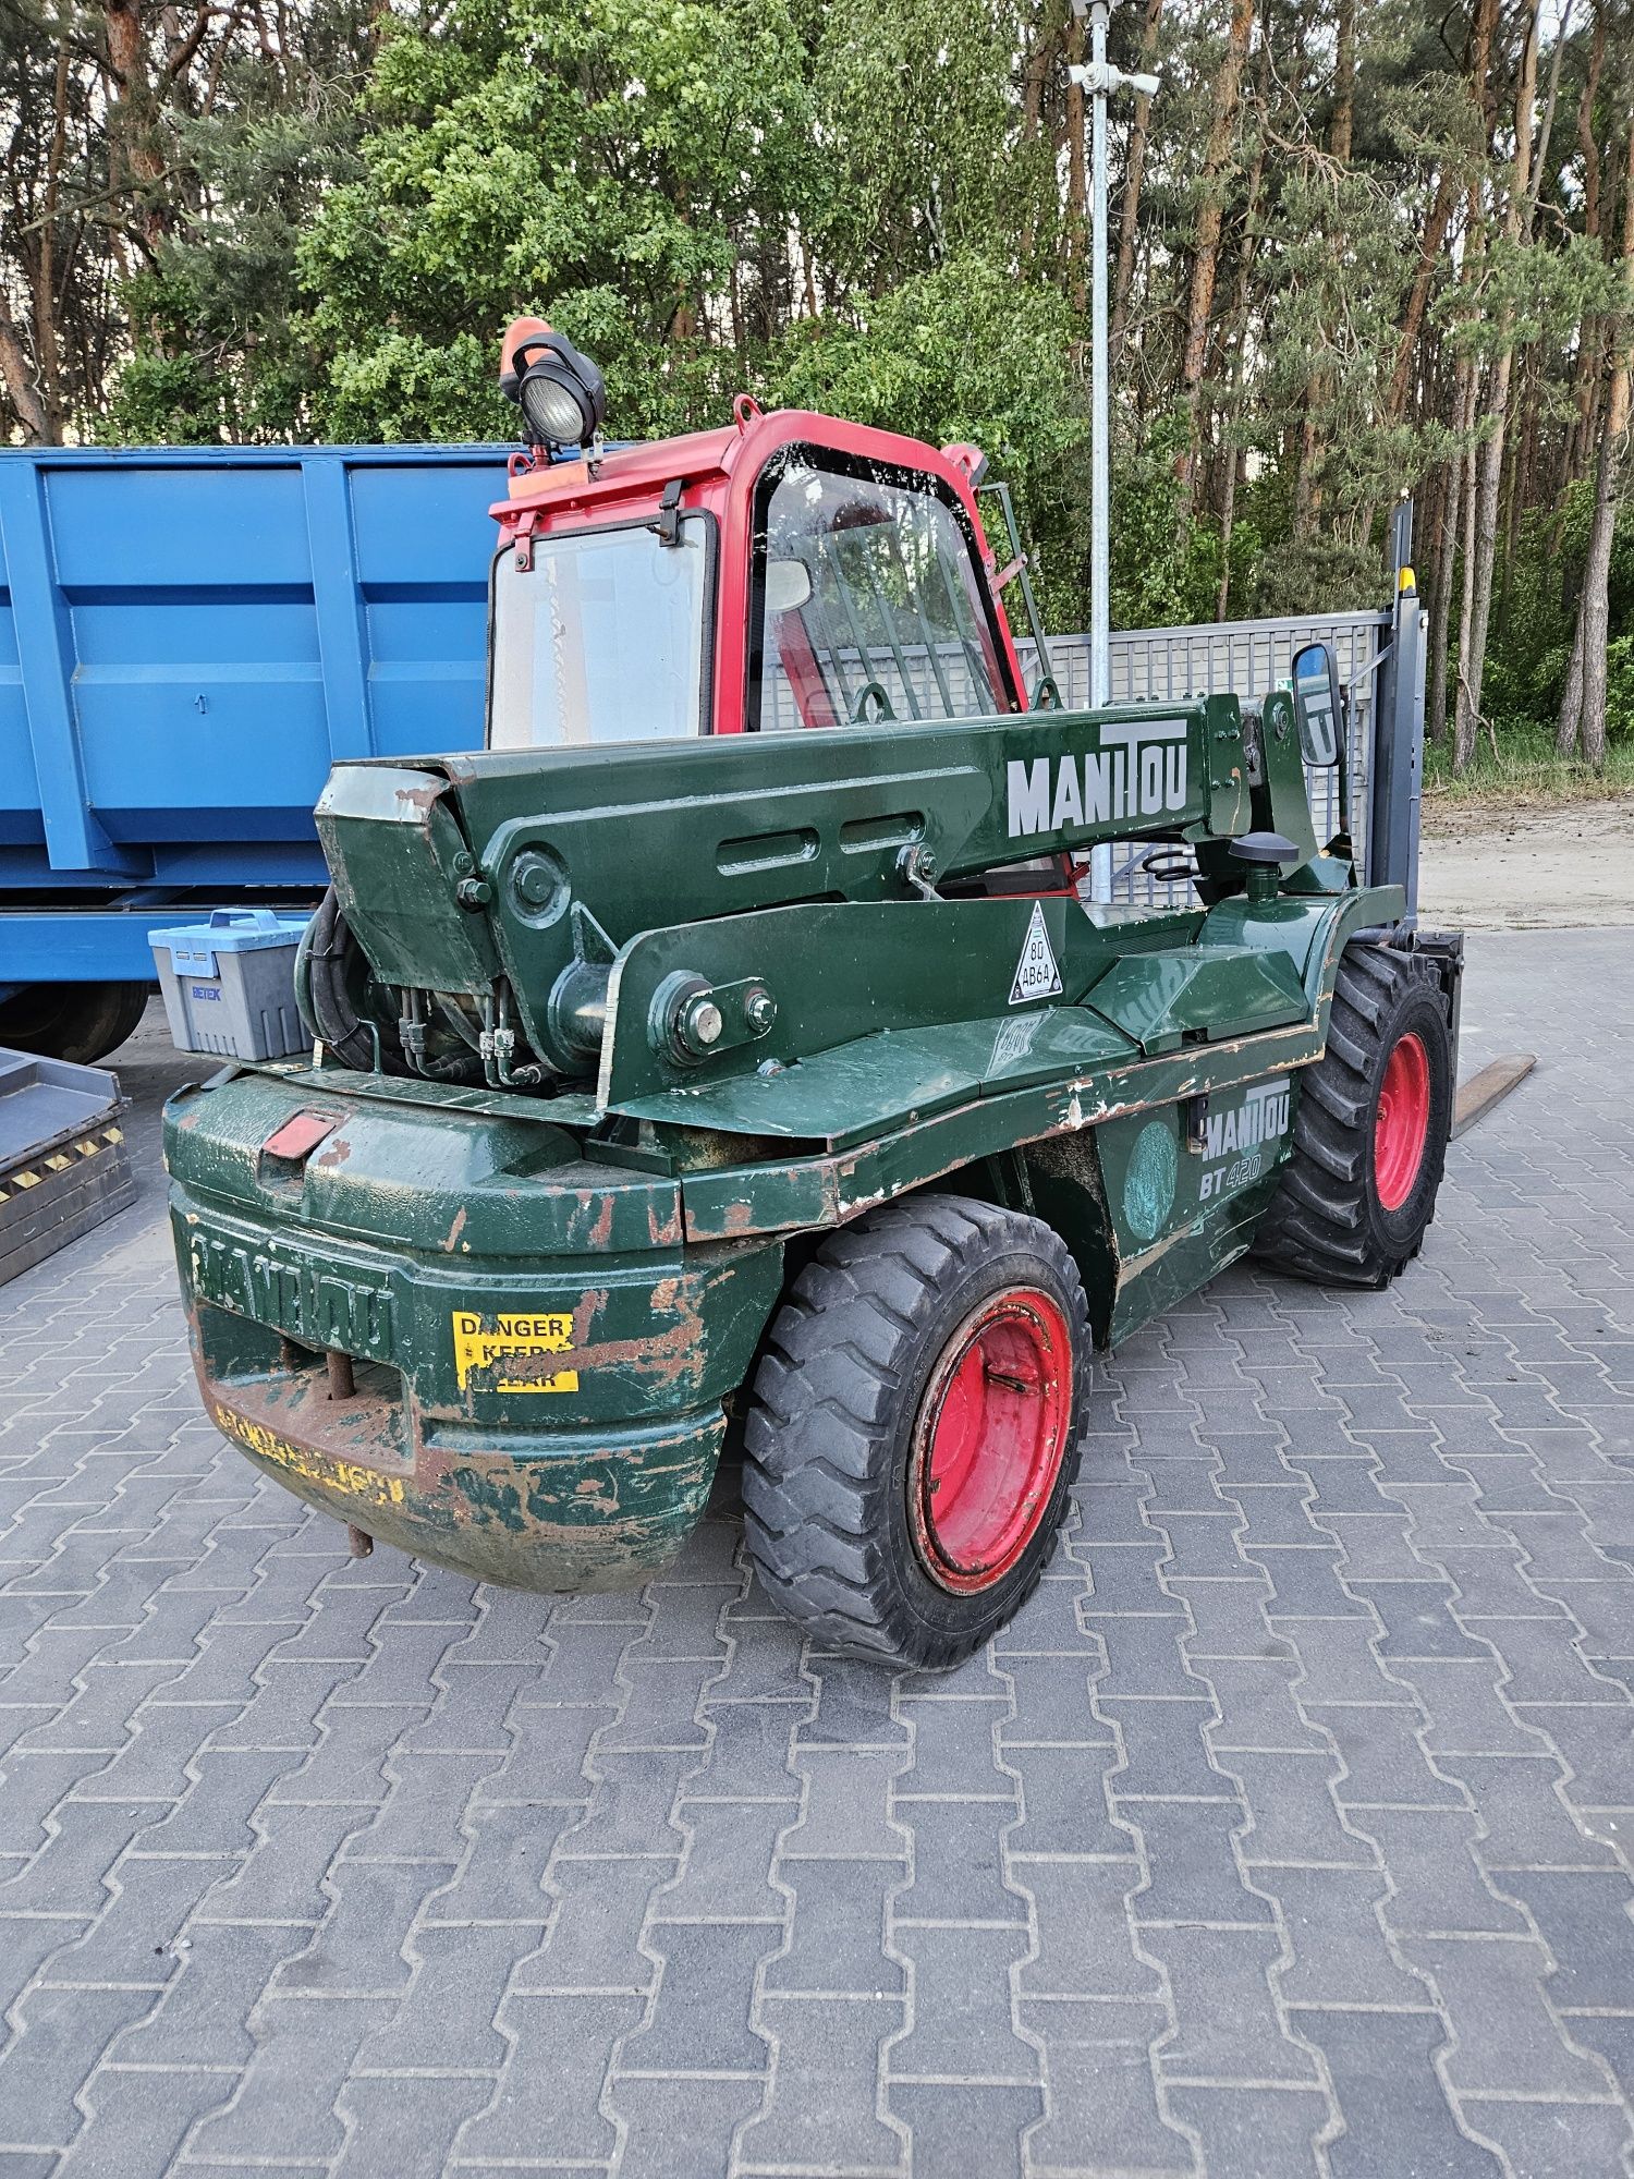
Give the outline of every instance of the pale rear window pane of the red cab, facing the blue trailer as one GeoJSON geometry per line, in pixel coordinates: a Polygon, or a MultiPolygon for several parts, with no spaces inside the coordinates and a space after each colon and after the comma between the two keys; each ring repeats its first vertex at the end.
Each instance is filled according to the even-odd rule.
{"type": "Polygon", "coordinates": [[[667,545],[651,525],[505,547],[492,575],[490,750],[577,750],[702,734],[710,523],[667,545]]]}

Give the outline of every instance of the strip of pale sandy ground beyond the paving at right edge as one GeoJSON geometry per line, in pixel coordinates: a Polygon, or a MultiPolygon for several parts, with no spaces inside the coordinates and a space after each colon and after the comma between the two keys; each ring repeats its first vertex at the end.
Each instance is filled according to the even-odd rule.
{"type": "Polygon", "coordinates": [[[1427,802],[1418,915],[1464,930],[1634,924],[1634,795],[1497,811],[1427,802]]]}

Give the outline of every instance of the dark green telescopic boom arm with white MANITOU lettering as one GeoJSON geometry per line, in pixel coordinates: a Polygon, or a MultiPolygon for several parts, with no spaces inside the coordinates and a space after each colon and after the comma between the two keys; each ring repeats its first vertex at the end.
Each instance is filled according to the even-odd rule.
{"type": "Polygon", "coordinates": [[[1209,697],[340,765],[318,830],[381,985],[503,987],[538,1059],[584,1079],[606,1068],[610,972],[641,933],[909,902],[1102,839],[1229,839],[1253,821],[1246,769],[1235,697],[1209,697]]]}

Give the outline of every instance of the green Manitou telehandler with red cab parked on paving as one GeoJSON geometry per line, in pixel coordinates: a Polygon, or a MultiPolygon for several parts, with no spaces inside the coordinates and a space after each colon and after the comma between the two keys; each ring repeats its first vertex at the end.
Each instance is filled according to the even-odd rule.
{"type": "Polygon", "coordinates": [[[1094,1349],[1248,1249],[1418,1251],[1458,946],[1312,832],[1325,647],[1255,706],[1031,702],[974,447],[739,399],[606,449],[566,342],[505,370],[488,750],[336,765],[314,1055],[166,1116],[198,1381],[355,1547],[529,1588],[656,1573],[732,1438],[780,1608],[952,1665],[1050,1556],[1094,1349]],[[1194,904],[1081,900],[1100,841],[1194,904]]]}

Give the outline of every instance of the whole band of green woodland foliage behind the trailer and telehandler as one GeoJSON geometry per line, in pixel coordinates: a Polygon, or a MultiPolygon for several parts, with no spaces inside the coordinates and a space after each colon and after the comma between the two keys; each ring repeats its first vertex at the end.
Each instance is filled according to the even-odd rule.
{"type": "MultiPolygon", "coordinates": [[[[1477,370],[1481,440],[1512,351],[1499,534],[1514,549],[1481,713],[1516,745],[1551,728],[1593,519],[1580,412],[1627,331],[1617,37],[1588,85],[1606,4],[1569,17],[1560,52],[1545,11],[1534,131],[1545,100],[1553,120],[1527,218],[1510,192],[1529,11],[1497,11],[1473,85],[1475,0],[1353,9],[1342,126],[1336,0],[1255,0],[1224,118],[1233,11],[1161,9],[1129,238],[1133,105],[1113,120],[1111,240],[1133,246],[1115,625],[1211,621],[1222,599],[1242,617],[1375,601],[1392,501],[1416,490],[1434,540],[1427,516],[1468,449],[1458,370],[1477,370]],[[1410,301],[1425,307],[1403,344],[1410,301]]],[[[499,338],[536,312],[603,366],[617,436],[719,425],[747,388],[976,440],[1037,545],[1048,623],[1085,625],[1085,115],[1068,78],[1083,26],[1068,0],[294,0],[275,24],[207,9],[196,33],[190,13],[139,11],[122,96],[113,13],[0,0],[0,333],[17,299],[33,312],[0,342],[0,438],[503,442],[499,338]],[[135,155],[159,181],[131,183],[135,155]],[[39,360],[39,421],[7,355],[39,360]]],[[[1118,65],[1142,65],[1142,20],[1113,11],[1118,65]]],[[[1431,595],[1429,543],[1418,558],[1431,595]]],[[[1630,512],[1610,628],[1610,730],[1627,737],[1630,512]]]]}

